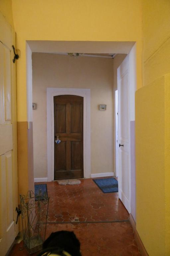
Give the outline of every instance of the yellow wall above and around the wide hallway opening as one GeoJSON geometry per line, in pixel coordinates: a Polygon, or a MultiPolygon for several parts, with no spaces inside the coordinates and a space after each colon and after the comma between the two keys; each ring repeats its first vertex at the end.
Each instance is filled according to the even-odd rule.
{"type": "Polygon", "coordinates": [[[17,48],[18,121],[27,120],[26,40],[136,41],[137,86],[142,85],[141,0],[12,0],[17,48]]]}

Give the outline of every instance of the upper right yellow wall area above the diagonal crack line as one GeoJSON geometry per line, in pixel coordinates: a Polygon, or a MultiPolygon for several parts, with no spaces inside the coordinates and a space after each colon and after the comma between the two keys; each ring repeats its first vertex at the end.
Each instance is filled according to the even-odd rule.
{"type": "Polygon", "coordinates": [[[169,14],[169,0],[142,0],[144,62],[170,38],[169,14]]]}

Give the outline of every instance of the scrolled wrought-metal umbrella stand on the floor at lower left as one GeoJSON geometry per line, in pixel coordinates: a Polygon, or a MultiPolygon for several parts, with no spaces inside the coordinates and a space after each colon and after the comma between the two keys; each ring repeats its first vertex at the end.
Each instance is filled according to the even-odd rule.
{"type": "Polygon", "coordinates": [[[49,197],[39,190],[38,195],[28,191],[20,195],[24,246],[29,253],[42,249],[45,240],[49,197]]]}

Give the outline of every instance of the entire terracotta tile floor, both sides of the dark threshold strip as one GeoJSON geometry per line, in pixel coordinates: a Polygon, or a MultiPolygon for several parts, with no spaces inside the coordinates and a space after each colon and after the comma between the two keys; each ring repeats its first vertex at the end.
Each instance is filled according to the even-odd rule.
{"type": "MultiPolygon", "coordinates": [[[[102,193],[91,179],[74,186],[48,182],[47,188],[50,203],[46,237],[59,230],[74,231],[81,243],[82,256],[141,256],[129,221],[102,223],[128,219],[118,193],[102,193]],[[75,218],[86,223],[66,223],[75,218]]],[[[21,246],[22,242],[16,244],[9,255],[28,256],[26,249],[19,250],[21,246]]]]}

